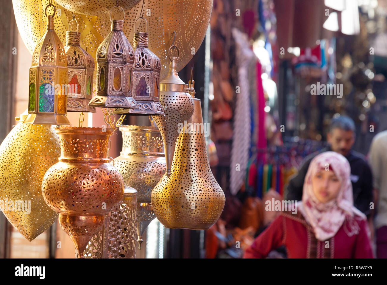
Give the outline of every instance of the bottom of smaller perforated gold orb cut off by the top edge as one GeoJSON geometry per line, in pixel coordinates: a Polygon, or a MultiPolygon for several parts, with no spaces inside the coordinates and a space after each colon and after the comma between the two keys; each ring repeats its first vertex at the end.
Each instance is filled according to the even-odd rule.
{"type": "MultiPolygon", "coordinates": [[[[57,2],[71,12],[91,16],[109,14],[111,7],[117,3],[116,0],[57,0],[57,2]]],[[[121,0],[118,5],[128,10],[139,2],[140,0],[121,0]]]]}

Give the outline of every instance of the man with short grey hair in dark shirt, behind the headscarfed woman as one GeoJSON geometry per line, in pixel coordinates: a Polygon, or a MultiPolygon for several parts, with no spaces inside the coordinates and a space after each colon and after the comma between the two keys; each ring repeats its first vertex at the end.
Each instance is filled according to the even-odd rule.
{"type": "Polygon", "coordinates": [[[340,116],[332,119],[327,134],[329,147],[312,153],[305,158],[298,174],[289,181],[287,200],[300,201],[305,175],[310,161],[324,151],[336,151],[345,156],[351,166],[351,182],[353,188],[353,204],[365,215],[370,215],[372,202],[372,172],[365,157],[351,148],[355,142],[355,125],[351,118],[340,116]]]}

